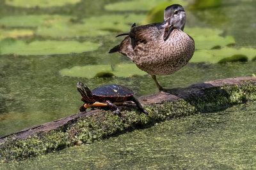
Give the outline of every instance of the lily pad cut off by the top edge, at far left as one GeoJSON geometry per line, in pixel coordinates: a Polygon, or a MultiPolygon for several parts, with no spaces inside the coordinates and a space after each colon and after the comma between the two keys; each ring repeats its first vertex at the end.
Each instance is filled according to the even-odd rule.
{"type": "Polygon", "coordinates": [[[35,8],[42,7],[47,8],[51,6],[64,6],[67,4],[76,4],[81,0],[5,0],[5,3],[10,6],[24,7],[24,8],[35,8]]]}

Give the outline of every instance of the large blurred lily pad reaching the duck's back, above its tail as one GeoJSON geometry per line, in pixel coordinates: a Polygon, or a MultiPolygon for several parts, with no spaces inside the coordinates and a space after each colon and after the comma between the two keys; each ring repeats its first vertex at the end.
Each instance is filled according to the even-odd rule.
{"type": "Polygon", "coordinates": [[[131,25],[140,24],[145,15],[103,15],[84,18],[83,24],[70,23],[67,20],[38,27],[36,34],[51,37],[105,36],[113,32],[128,32],[131,25]]]}

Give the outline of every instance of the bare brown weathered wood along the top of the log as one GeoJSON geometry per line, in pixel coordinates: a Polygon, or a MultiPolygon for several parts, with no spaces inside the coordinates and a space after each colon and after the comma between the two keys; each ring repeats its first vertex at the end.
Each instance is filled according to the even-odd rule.
{"type": "MultiPolygon", "coordinates": [[[[220,80],[213,81],[205,81],[203,83],[197,83],[195,85],[191,85],[186,88],[177,88],[170,89],[171,95],[166,95],[162,93],[150,94],[147,96],[139,97],[139,101],[142,104],[153,104],[153,103],[164,103],[165,101],[178,101],[179,99],[188,99],[191,96],[204,96],[205,89],[211,89],[212,87],[222,87],[224,85],[243,85],[245,81],[256,82],[256,78],[253,77],[239,77],[239,78],[225,78],[220,80]],[[174,94],[174,95],[173,95],[174,94]]],[[[52,129],[58,129],[59,127],[63,127],[67,124],[72,124],[77,121],[78,118],[81,117],[92,117],[93,114],[99,113],[100,110],[93,110],[87,112],[80,112],[76,115],[72,115],[70,117],[60,118],[58,120],[54,120],[52,122],[35,125],[33,127],[29,127],[27,129],[23,129],[22,131],[15,132],[13,134],[9,134],[7,136],[3,136],[0,138],[0,143],[6,141],[6,139],[10,136],[15,136],[15,139],[27,139],[29,136],[36,134],[38,132],[48,132],[52,129]]]]}

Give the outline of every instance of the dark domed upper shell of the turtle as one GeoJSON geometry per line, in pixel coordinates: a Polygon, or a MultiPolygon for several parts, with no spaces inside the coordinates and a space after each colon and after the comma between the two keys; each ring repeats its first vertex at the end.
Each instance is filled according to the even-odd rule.
{"type": "Polygon", "coordinates": [[[92,90],[92,94],[95,96],[113,96],[113,97],[125,97],[131,96],[134,94],[132,90],[124,87],[122,85],[104,85],[101,87],[97,87],[96,89],[92,90]]]}

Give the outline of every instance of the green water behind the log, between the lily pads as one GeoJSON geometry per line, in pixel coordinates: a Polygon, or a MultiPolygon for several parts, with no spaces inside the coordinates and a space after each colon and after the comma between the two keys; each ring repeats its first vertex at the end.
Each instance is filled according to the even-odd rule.
{"type": "MultiPolygon", "coordinates": [[[[97,2],[84,1],[84,6],[90,6],[90,9],[86,8],[86,10],[81,6],[74,6],[73,10],[68,10],[66,6],[62,10],[52,8],[46,12],[75,15],[81,18],[111,13],[104,10],[105,1],[97,2]],[[97,5],[93,5],[93,3],[97,3],[97,5]]],[[[110,2],[115,1],[105,3],[110,2]]],[[[254,6],[256,3],[253,1],[244,1],[243,3],[241,1],[225,1],[224,4],[221,8],[209,9],[204,12],[193,11],[194,17],[189,17],[188,14],[186,26],[217,27],[225,30],[224,34],[234,36],[237,48],[242,46],[255,47],[256,11],[254,6]],[[205,20],[202,17],[205,16],[205,13],[215,18],[208,17],[208,20],[205,20]],[[226,20],[223,21],[223,17],[226,20]]],[[[12,8],[7,8],[3,3],[1,5],[0,17],[12,15],[10,13],[12,8]]],[[[40,14],[44,12],[26,10],[25,8],[15,9],[17,15],[19,13],[40,14]]],[[[83,104],[79,101],[81,96],[76,90],[77,81],[86,83],[91,89],[113,83],[125,85],[136,92],[137,96],[157,92],[156,85],[150,76],[88,80],[59,74],[61,69],[67,67],[131,62],[118,53],[108,54],[109,49],[117,45],[122,39],[115,38],[116,34],[93,38],[93,41],[102,43],[102,46],[93,52],[67,55],[0,56],[0,136],[77,113],[79,106],[83,104]]],[[[83,41],[86,38],[79,40],[83,41]]],[[[200,81],[233,76],[251,76],[256,71],[255,65],[256,62],[190,63],[177,73],[158,77],[158,80],[167,89],[187,87],[200,81]]]]}

